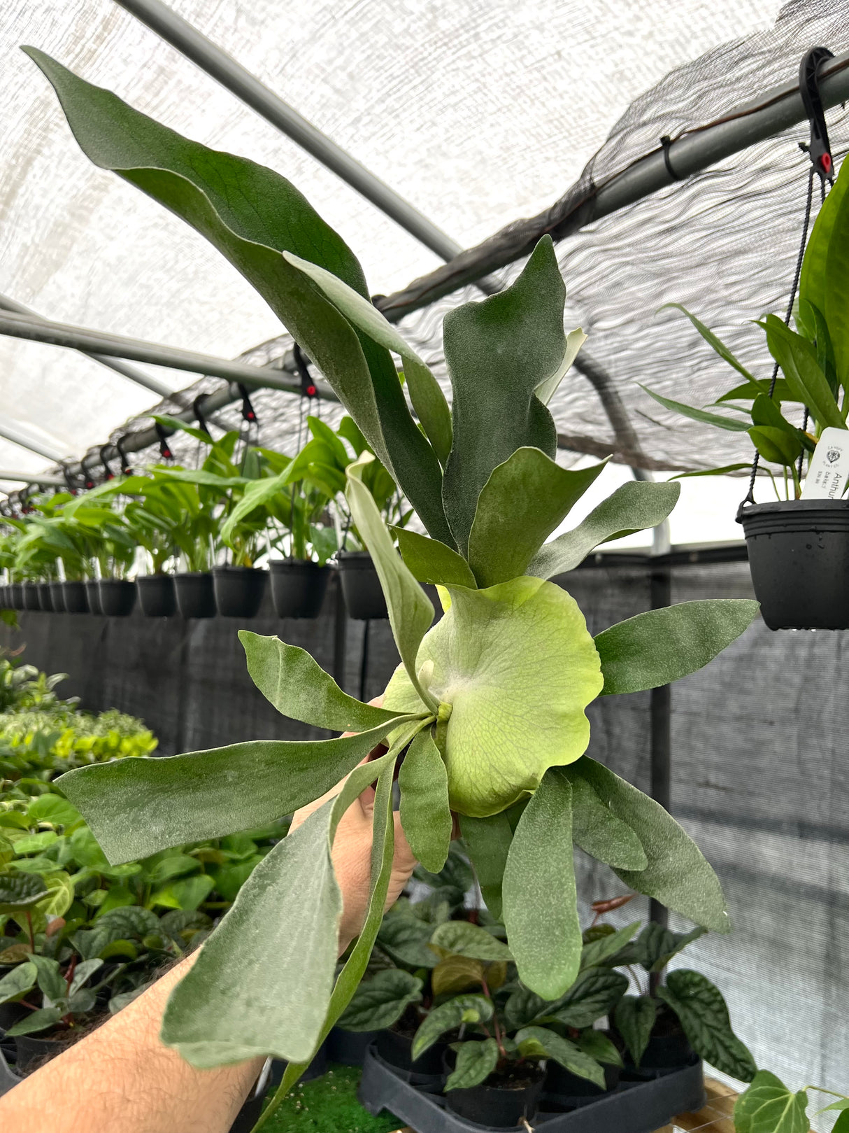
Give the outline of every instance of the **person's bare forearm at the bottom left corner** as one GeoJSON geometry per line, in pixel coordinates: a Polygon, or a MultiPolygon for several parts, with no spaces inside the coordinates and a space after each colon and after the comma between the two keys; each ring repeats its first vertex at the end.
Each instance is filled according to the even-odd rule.
{"type": "Polygon", "coordinates": [[[160,1040],[165,1004],[195,956],[0,1098],[0,1128],[27,1133],[226,1133],[261,1059],[195,1070],[160,1040]]]}

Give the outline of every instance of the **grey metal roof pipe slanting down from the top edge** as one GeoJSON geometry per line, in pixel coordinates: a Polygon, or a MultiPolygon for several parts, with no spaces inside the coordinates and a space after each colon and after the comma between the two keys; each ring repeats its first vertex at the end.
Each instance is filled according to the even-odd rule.
{"type": "Polygon", "coordinates": [[[332,142],[241,63],[207,40],[168,5],[162,3],[162,0],[115,0],[115,2],[256,110],[267,122],[292,138],[441,259],[452,259],[462,250],[458,244],[423,216],[409,201],[332,142]]]}

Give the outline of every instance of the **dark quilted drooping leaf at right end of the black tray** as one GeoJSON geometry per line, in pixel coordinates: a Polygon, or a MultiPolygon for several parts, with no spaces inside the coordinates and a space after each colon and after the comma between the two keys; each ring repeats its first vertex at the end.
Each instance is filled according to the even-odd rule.
{"type": "Polygon", "coordinates": [[[658,988],[660,998],[672,1008],[689,1045],[706,1063],[740,1082],[757,1073],[752,1054],[731,1030],[722,993],[701,972],[679,968],[658,988]]]}

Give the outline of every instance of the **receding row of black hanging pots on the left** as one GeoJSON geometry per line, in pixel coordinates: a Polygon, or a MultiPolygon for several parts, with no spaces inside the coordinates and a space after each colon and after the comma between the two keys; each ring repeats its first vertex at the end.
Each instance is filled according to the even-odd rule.
{"type": "MultiPolygon", "coordinates": [[[[274,610],[280,617],[318,617],[334,568],[301,559],[271,562],[268,570],[214,566],[212,571],[146,574],[135,582],[100,579],[89,582],[14,582],[0,587],[0,608],[42,610],[68,614],[125,617],[136,602],[148,617],[255,617],[271,580],[274,610]]],[[[338,565],[342,594],[351,617],[386,617],[371,556],[342,552],[338,565]]]]}

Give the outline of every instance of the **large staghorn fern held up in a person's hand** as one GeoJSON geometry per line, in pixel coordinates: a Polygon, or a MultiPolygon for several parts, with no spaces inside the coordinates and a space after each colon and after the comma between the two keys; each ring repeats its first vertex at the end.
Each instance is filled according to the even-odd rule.
{"type": "Polygon", "coordinates": [[[574,598],[549,581],[598,544],[660,523],[679,491],[627,484],[546,544],[603,467],[572,471],[555,460],[547,402],[584,335],[564,333],[551,240],[539,242],[509,288],[446,316],[449,409],[430,369],[370,303],[351,250],[289,181],[189,142],[26,50],[92,161],[186,220],[255,286],[428,531],[398,533],[401,557],[362,483],[369,454],[349,468],[348,502],[401,655],[381,708],[346,696],[305,650],[241,634],[251,678],[284,715],[359,734],[123,760],[61,780],[119,862],[273,820],[349,775],[256,868],[175,988],[164,1040],[197,1066],[286,1058],[289,1089],[366,970],[388,886],[396,767],[401,821],[417,857],[437,871],[452,812],[460,816],[518,976],[543,999],[564,996],[580,970],[574,844],[632,888],[727,931],[719,881],[695,844],[660,806],[584,755],[585,709],[598,696],[694,672],[744,631],[757,606],[684,603],[593,639],[574,598]],[[441,587],[445,613],[432,629],[422,581],[441,587]],[[386,753],[358,766],[379,743],[386,753]],[[331,849],[344,809],[375,782],[369,910],[334,982],[341,896],[331,849]]]}

